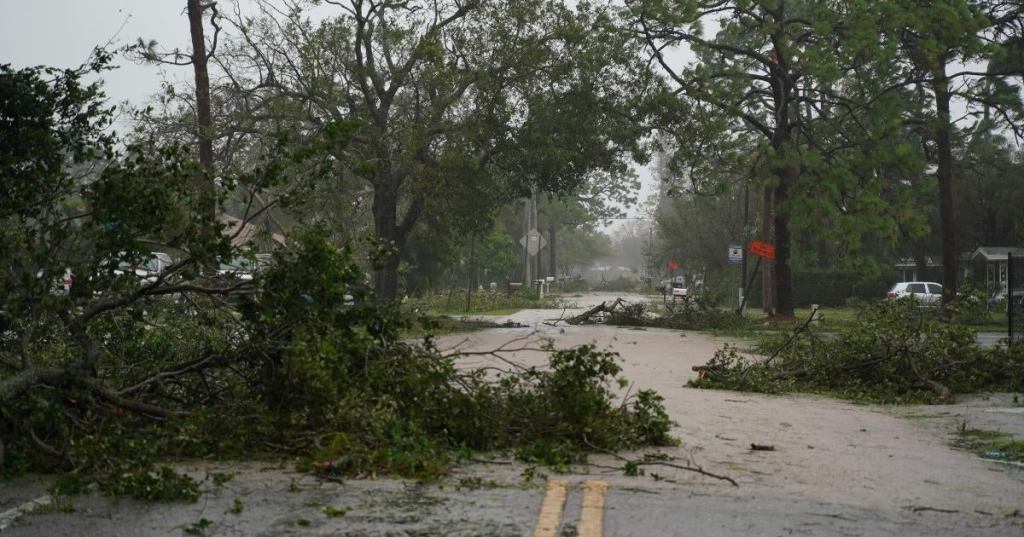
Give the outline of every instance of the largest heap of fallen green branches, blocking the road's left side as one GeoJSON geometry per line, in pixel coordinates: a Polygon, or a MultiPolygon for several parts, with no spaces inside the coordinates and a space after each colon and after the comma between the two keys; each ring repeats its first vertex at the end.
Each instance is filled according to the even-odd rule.
{"type": "Polygon", "coordinates": [[[7,468],[188,499],[196,484],[160,460],[288,454],[324,472],[432,478],[461,449],[564,464],[591,444],[672,442],[657,395],[613,403],[613,354],[551,349],[550,369],[498,379],[459,370],[429,339],[400,339],[397,309],[360,291],[362,273],[344,251],[316,235],[299,245],[275,254],[240,316],[175,302],[111,316],[96,328],[119,349],[101,366],[109,391],[90,379],[5,405],[7,468]],[[119,404],[129,397],[131,408],[119,404]]]}

